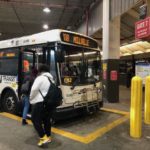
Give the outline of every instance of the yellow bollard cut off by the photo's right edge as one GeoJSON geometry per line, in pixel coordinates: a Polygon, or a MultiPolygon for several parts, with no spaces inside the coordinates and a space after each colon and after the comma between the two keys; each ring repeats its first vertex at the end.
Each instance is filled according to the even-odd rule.
{"type": "Polygon", "coordinates": [[[150,76],[145,81],[144,122],[150,124],[150,76]]]}

